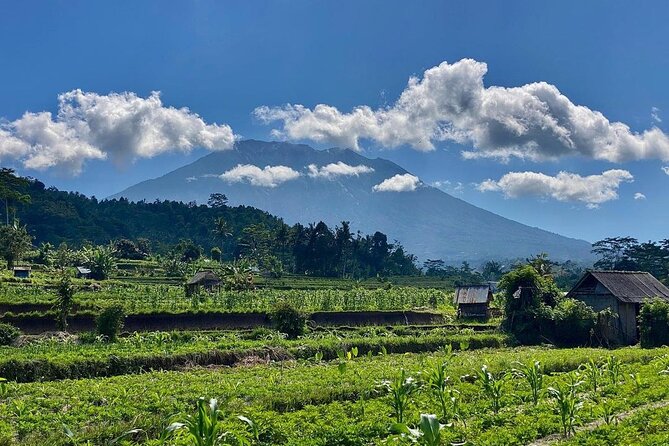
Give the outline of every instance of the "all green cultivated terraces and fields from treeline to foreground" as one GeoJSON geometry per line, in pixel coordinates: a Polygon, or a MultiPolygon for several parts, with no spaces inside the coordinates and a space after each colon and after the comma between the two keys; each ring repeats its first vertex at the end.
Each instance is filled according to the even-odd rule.
{"type": "MultiPolygon", "coordinates": [[[[185,429],[168,426],[196,419],[199,398],[218,400],[219,433],[229,432],[218,444],[410,444],[397,423],[416,427],[421,414],[444,425],[440,443],[423,435],[422,444],[669,442],[669,348],[514,347],[499,321],[457,320],[452,289],[438,279],[286,277],[194,298],[173,279],[135,270],[100,287],[75,283],[82,291],[74,321],[111,303],[124,306],[128,321],[158,313],[263,316],[286,299],[356,323],[317,324],[312,315],[297,339],[262,317],[238,329],[138,330],[113,343],[88,333],[23,337],[0,348],[0,376],[8,379],[0,445],[195,444],[185,429]],[[393,312],[436,319],[378,317],[393,312]]],[[[53,287],[47,273],[30,280],[5,273],[3,320],[53,319],[53,287]]]]}

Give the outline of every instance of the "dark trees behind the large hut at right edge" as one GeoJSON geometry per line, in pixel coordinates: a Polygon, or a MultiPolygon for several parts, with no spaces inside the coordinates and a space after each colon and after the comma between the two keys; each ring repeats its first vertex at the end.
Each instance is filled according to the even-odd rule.
{"type": "Polygon", "coordinates": [[[610,237],[593,243],[599,256],[595,269],[646,271],[669,283],[669,239],[639,242],[633,237],[610,237]]]}

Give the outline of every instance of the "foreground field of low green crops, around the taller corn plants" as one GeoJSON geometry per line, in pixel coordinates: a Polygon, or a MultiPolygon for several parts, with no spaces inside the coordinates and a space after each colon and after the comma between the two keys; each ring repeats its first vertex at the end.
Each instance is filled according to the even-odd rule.
{"type": "MultiPolygon", "coordinates": [[[[1,421],[7,444],[68,444],[67,437],[54,429],[60,423],[78,440],[93,444],[104,444],[132,428],[142,430],[131,437],[133,441],[158,444],[154,439],[170,422],[193,413],[193,402],[207,396],[222,404],[224,430],[243,433],[244,425],[233,415],[254,420],[260,433],[258,444],[381,444],[404,441],[391,435],[389,428],[398,418],[397,389],[407,385],[411,391],[403,403],[403,422],[413,425],[420,413],[434,413],[442,422],[453,423],[452,428],[444,428],[445,442],[525,444],[562,429],[558,397],[549,387],[579,402],[576,423],[666,399],[669,378],[659,372],[666,370],[667,353],[668,349],[627,348],[611,353],[519,348],[356,359],[352,348],[329,363],[315,355],[306,362],[233,369],[10,384],[0,413],[8,414],[1,421]],[[601,378],[598,385],[589,378],[590,359],[601,378]],[[543,383],[536,404],[527,379],[513,372],[519,368],[516,361],[541,364],[543,383]],[[444,363],[443,380],[433,379],[444,363]],[[498,391],[491,390],[496,385],[491,387],[486,373],[501,383],[498,391]],[[449,399],[444,414],[430,384],[439,382],[459,403],[454,408],[449,399]]],[[[170,441],[192,444],[185,435],[170,441]]]]}

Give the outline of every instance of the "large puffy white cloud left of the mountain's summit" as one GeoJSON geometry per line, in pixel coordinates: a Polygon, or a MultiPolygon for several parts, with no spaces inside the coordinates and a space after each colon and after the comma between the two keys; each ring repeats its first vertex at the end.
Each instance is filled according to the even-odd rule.
{"type": "Polygon", "coordinates": [[[166,107],[160,93],[72,90],[58,96],[58,113],[25,113],[0,128],[0,157],[29,169],[57,167],[77,174],[91,159],[126,163],[196,147],[224,150],[235,136],[225,124],[207,124],[187,108],[166,107]]]}

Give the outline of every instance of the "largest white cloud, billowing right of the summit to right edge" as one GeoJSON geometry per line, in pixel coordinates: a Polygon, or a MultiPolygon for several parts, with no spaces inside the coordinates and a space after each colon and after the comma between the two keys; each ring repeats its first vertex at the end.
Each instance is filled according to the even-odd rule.
{"type": "Polygon", "coordinates": [[[384,147],[410,145],[432,150],[439,141],[471,144],[466,158],[510,157],[532,160],[580,155],[622,162],[669,160],[669,137],[658,128],[636,133],[602,113],[574,104],[553,85],[485,87],[485,63],[443,62],[412,77],[389,107],[363,105],[345,113],[318,104],[259,107],[261,121],[279,121],[275,136],[311,139],[360,149],[361,139],[384,147]]]}

